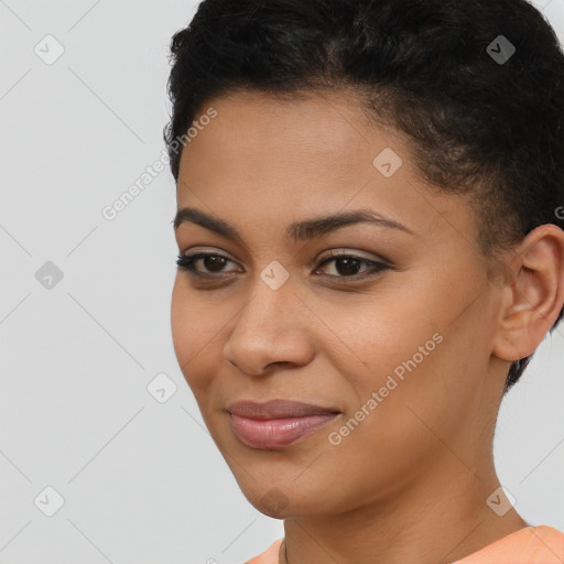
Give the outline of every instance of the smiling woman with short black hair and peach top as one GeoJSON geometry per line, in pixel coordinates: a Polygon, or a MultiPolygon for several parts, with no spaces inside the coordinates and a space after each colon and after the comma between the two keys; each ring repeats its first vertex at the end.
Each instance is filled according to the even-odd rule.
{"type": "Polygon", "coordinates": [[[564,304],[564,55],[523,0],[205,0],[172,41],[174,347],[253,564],[562,563],[496,416],[564,304]]]}

